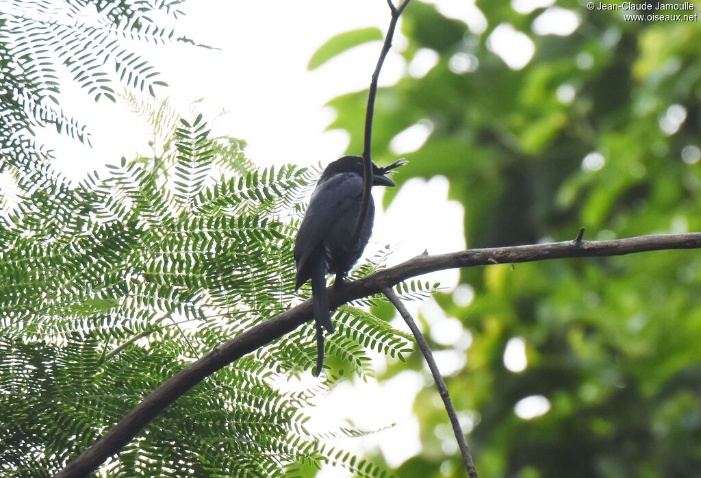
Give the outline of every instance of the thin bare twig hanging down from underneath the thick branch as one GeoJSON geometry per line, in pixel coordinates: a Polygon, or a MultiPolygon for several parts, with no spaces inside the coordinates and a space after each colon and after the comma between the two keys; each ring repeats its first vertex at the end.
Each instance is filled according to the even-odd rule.
{"type": "Polygon", "coordinates": [[[387,296],[387,299],[389,299],[392,305],[395,306],[397,312],[399,312],[404,319],[404,322],[407,322],[409,329],[411,329],[411,333],[414,334],[418,349],[421,350],[423,358],[426,360],[426,364],[428,364],[428,369],[433,375],[433,381],[436,383],[438,393],[440,394],[443,404],[445,405],[445,411],[450,418],[450,424],[453,425],[453,433],[455,434],[455,439],[458,441],[460,454],[463,456],[463,465],[465,465],[465,470],[468,470],[468,475],[470,478],[477,478],[477,470],[475,470],[475,463],[472,461],[470,447],[468,446],[468,443],[465,442],[465,434],[463,433],[463,429],[460,427],[458,414],[453,406],[453,401],[450,400],[450,393],[448,392],[448,387],[445,385],[443,376],[440,374],[440,370],[438,369],[435,360],[433,360],[433,353],[431,353],[431,348],[428,346],[428,342],[424,338],[423,334],[421,334],[421,329],[419,329],[416,322],[414,322],[414,317],[411,317],[409,310],[404,307],[404,304],[400,300],[399,296],[397,296],[396,292],[394,292],[394,289],[392,287],[386,287],[383,289],[383,293],[385,296],[387,296]]]}

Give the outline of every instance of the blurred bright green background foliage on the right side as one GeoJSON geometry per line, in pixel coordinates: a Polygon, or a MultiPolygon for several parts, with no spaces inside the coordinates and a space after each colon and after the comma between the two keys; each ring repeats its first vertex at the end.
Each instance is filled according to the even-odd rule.
{"type": "MultiPolygon", "coordinates": [[[[484,31],[416,0],[405,11],[401,55],[409,63],[430,49],[437,63],[379,90],[375,161],[396,158],[390,142],[406,128],[430,125],[423,146],[403,155],[397,182],[447,177],[449,198],[465,207],[469,247],[569,240],[580,227],[585,240],[701,230],[698,21],[625,21],[639,12],[571,0],[528,13],[505,1],[476,6],[484,31]],[[578,26],[537,34],[536,19],[553,14],[578,26]],[[490,48],[504,25],[535,48],[521,69],[490,48]]],[[[330,102],[330,128],[351,134],[351,153],[362,151],[366,98],[330,102]]],[[[699,253],[683,251],[463,270],[475,300],[436,299],[472,335],[465,366],[447,383],[474,425],[480,475],[701,476],[700,269],[699,253]],[[514,337],[526,344],[520,373],[503,360],[514,337]],[[515,404],[531,395],[550,409],[519,418],[515,404]]],[[[409,367],[423,367],[416,354],[409,367]]],[[[442,448],[453,438],[440,432],[447,417],[435,395],[427,388],[416,399],[423,451],[401,477],[461,476],[459,457],[442,448]]]]}

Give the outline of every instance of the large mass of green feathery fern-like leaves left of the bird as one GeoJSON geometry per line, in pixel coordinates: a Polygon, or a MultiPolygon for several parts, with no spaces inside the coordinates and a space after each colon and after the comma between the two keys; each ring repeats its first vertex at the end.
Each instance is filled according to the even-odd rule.
{"type": "MultiPolygon", "coordinates": [[[[5,216],[4,476],[56,472],[179,369],[308,295],[294,293],[292,244],[297,198],[318,171],[254,168],[202,116],[169,124],[177,128],[153,160],[161,167],[124,160],[105,177],[27,194],[5,216]]],[[[351,306],[336,323],[327,341],[336,369],[324,383],[280,386],[315,360],[313,327],[301,327],[200,383],[103,471],[258,477],[327,461],[386,476],[319,444],[307,411],[348,371],[369,374],[367,348],[404,360],[410,339],[351,306]]]]}

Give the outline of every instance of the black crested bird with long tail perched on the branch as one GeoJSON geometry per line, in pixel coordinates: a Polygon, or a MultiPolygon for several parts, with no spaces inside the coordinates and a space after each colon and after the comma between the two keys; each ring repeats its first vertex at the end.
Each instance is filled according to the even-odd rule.
{"type": "MultiPolygon", "coordinates": [[[[384,168],[372,163],[373,186],[395,186],[386,176],[390,170],[406,163],[399,160],[384,168]]],[[[336,285],[343,282],[362,251],[365,250],[375,217],[375,205],[370,203],[362,224],[360,237],[350,244],[355,223],[360,214],[363,189],[363,159],[343,156],[329,164],[311,195],[297,240],[294,242],[294,261],[297,264],[297,290],[311,279],[311,291],[316,321],[317,362],[316,375],[324,364],[324,331],[334,332],[326,294],[326,275],[336,274],[336,285]]]]}

